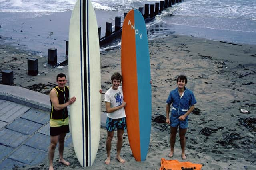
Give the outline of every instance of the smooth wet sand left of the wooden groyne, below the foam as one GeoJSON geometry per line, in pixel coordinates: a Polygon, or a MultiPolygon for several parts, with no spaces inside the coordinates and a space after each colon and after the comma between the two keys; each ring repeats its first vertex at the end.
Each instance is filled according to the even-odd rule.
{"type": "MultiPolygon", "coordinates": [[[[105,35],[105,22],[114,22],[121,12],[95,10],[97,22],[101,27],[101,37],[105,35]]],[[[58,63],[66,58],[66,41],[72,10],[64,12],[0,12],[5,20],[0,20],[2,41],[26,49],[34,55],[48,57],[48,49],[56,48],[58,63]],[[23,16],[24,15],[24,16],[23,16]],[[38,15],[38,16],[37,16],[38,15]],[[11,17],[10,17],[11,16],[11,17]],[[24,18],[22,18],[24,17],[24,18]],[[9,18],[9,20],[8,20],[9,18]],[[15,18],[15,19],[11,19],[15,18]],[[3,37],[4,36],[4,37],[3,37]]],[[[123,18],[123,17],[122,17],[123,18]]],[[[1,40],[1,39],[0,39],[1,40]]]]}

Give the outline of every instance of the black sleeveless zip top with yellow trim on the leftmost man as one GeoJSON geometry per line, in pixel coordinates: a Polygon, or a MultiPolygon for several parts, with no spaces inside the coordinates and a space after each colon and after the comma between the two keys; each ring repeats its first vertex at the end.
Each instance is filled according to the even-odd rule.
{"type": "MultiPolygon", "coordinates": [[[[65,86],[64,90],[59,89],[58,86],[56,86],[53,89],[57,93],[59,104],[64,104],[64,103],[68,102],[68,99],[69,99],[68,86],[65,86]]],[[[51,99],[50,99],[50,102],[51,102],[51,106],[52,106],[51,113],[50,113],[50,119],[64,121],[68,117],[68,108],[65,107],[64,109],[61,109],[61,110],[55,110],[51,99]]]]}

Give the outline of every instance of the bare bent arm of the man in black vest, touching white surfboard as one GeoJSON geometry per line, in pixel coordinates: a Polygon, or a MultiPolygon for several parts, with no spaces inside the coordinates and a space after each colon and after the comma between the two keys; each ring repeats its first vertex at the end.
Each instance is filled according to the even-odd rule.
{"type": "Polygon", "coordinates": [[[59,104],[57,93],[54,89],[52,89],[50,92],[50,100],[52,101],[52,105],[55,110],[61,110],[74,103],[76,101],[76,97],[70,98],[70,100],[64,104],[59,104]]]}

